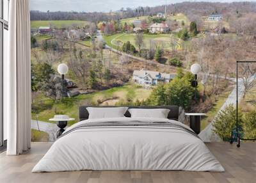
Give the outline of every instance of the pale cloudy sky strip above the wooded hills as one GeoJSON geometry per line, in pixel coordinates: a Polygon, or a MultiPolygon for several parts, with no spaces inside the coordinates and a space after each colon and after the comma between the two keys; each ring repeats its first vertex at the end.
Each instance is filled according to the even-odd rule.
{"type": "MultiPolygon", "coordinates": [[[[138,6],[157,6],[172,3],[180,3],[184,0],[30,0],[31,10],[42,12],[109,12],[121,8],[136,8],[138,6]]],[[[186,0],[189,1],[189,0],[186,0]]],[[[192,0],[198,1],[198,0],[192,0]]],[[[204,0],[214,2],[214,0],[204,0]]],[[[232,2],[241,0],[217,0],[218,2],[232,2]]],[[[250,1],[250,0],[248,0],[250,1]]]]}

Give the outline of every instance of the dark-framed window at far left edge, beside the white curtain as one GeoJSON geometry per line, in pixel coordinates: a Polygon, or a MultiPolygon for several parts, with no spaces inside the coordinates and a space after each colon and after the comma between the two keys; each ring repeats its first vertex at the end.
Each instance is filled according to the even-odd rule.
{"type": "Polygon", "coordinates": [[[6,124],[3,122],[3,64],[7,60],[7,33],[9,0],[0,0],[0,146],[6,141],[6,124]]]}

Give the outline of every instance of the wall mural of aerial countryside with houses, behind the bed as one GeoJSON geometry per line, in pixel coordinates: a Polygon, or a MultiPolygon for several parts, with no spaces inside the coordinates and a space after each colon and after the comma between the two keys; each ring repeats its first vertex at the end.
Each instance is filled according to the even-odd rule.
{"type": "MultiPolygon", "coordinates": [[[[68,115],[72,125],[82,105],[177,105],[206,114],[209,140],[230,140],[236,60],[256,58],[255,3],[61,2],[31,1],[32,141],[54,141],[58,127],[49,119],[68,115]],[[197,90],[193,63],[202,68],[197,90]]],[[[241,101],[247,111],[252,85],[241,101]]],[[[245,136],[255,138],[250,115],[254,130],[245,136]]]]}

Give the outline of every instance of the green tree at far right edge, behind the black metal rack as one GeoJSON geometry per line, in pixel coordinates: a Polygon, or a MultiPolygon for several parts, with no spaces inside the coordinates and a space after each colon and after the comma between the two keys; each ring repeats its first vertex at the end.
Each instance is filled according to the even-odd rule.
{"type": "Polygon", "coordinates": [[[243,129],[246,139],[256,138],[256,111],[250,111],[244,115],[243,129]]]}

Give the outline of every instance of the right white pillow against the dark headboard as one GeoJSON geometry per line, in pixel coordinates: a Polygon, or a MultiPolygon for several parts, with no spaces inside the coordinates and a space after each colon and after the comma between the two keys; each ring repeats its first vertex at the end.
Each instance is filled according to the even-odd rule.
{"type": "Polygon", "coordinates": [[[167,118],[170,109],[129,109],[131,118],[167,118]]]}

